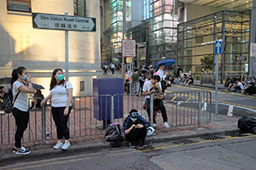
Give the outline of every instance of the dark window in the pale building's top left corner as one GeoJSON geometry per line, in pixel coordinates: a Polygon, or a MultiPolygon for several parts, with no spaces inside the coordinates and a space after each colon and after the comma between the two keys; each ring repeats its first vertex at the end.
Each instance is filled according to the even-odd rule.
{"type": "Polygon", "coordinates": [[[7,10],[31,13],[31,0],[7,0],[7,10]]]}

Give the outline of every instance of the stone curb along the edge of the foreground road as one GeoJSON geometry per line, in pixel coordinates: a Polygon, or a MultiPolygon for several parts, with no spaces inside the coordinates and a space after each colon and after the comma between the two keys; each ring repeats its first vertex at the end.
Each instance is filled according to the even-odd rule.
{"type": "MultiPolygon", "coordinates": [[[[177,139],[189,139],[189,138],[198,138],[208,135],[225,135],[228,133],[238,133],[240,132],[239,129],[234,130],[212,130],[208,132],[196,132],[191,133],[187,135],[183,135],[181,133],[179,134],[171,134],[171,133],[164,133],[161,135],[153,135],[147,137],[146,141],[147,143],[160,143],[160,142],[166,142],[166,141],[172,141],[177,139]]],[[[127,143],[127,142],[126,142],[127,143]]],[[[123,143],[121,147],[125,147],[125,144],[123,143]]],[[[52,148],[42,149],[42,150],[32,150],[32,154],[28,156],[19,156],[15,155],[14,153],[5,154],[4,156],[1,156],[1,161],[4,162],[1,163],[0,167],[3,167],[5,165],[8,165],[11,161],[22,161],[29,159],[32,160],[38,160],[38,157],[44,157],[47,156],[48,158],[51,157],[58,157],[58,156],[64,156],[63,153],[65,153],[65,156],[73,156],[74,153],[81,153],[84,151],[90,151],[90,150],[102,150],[105,148],[110,148],[110,144],[106,141],[97,142],[97,143],[91,143],[91,144],[73,144],[72,147],[69,150],[63,151],[63,150],[53,150],[52,148]]]]}

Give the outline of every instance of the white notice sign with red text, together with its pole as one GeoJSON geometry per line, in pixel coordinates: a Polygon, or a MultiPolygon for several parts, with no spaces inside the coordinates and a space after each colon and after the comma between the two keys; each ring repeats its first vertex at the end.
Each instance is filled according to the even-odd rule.
{"type": "MultiPolygon", "coordinates": [[[[136,41],[123,39],[122,40],[122,55],[124,57],[130,57],[130,74],[131,74],[131,57],[136,57],[136,41]]],[[[130,77],[130,95],[131,95],[131,77],[130,77]]]]}

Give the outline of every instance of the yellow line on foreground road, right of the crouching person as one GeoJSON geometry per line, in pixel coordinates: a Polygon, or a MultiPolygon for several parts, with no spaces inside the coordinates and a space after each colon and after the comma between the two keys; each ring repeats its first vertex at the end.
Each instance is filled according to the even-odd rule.
{"type": "Polygon", "coordinates": [[[184,146],[184,145],[204,144],[204,143],[210,143],[210,142],[215,142],[215,141],[219,141],[219,140],[243,139],[243,138],[251,138],[251,137],[256,137],[256,134],[252,134],[252,135],[244,136],[244,137],[230,137],[230,136],[226,136],[225,139],[203,140],[203,141],[199,141],[199,142],[195,142],[195,143],[191,143],[191,144],[166,145],[166,146],[156,147],[156,148],[148,149],[148,150],[140,150],[140,151],[141,152],[148,152],[148,151],[152,151],[152,150],[163,150],[163,149],[174,148],[174,147],[179,147],[179,146],[184,146]]]}

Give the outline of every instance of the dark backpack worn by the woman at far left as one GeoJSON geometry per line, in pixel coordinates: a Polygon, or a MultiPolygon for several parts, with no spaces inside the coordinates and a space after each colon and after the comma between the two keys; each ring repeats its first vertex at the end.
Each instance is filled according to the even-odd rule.
{"type": "MultiPolygon", "coordinates": [[[[19,94],[20,94],[20,91],[16,95],[15,100],[18,98],[19,94]]],[[[4,109],[5,113],[11,113],[13,111],[15,100],[14,100],[14,102],[12,102],[13,101],[13,91],[12,91],[12,89],[9,88],[8,93],[5,93],[4,97],[3,97],[3,109],[4,109]]]]}

